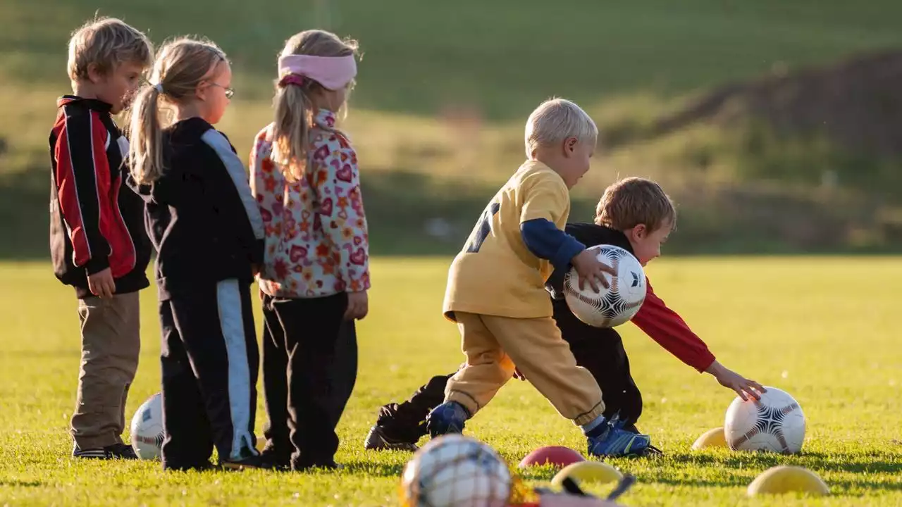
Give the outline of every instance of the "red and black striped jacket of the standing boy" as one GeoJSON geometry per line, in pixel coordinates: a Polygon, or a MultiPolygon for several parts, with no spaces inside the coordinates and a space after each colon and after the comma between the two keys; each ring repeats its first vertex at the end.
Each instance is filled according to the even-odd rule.
{"type": "Polygon", "coordinates": [[[116,293],[150,283],[145,270],[151,244],[142,198],[124,186],[128,141],[109,104],[65,96],[50,135],[51,258],[53,271],[90,296],[87,275],[110,268],[116,293]]]}

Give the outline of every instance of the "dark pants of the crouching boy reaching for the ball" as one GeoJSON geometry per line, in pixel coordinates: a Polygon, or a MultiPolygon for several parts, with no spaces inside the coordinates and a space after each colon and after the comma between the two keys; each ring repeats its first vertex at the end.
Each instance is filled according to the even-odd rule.
{"type": "MultiPolygon", "coordinates": [[[[576,364],[592,373],[598,386],[602,388],[604,417],[610,419],[619,413],[620,418],[626,422],[624,429],[638,433],[635,425],[642,413],[642,395],[632,380],[630,361],[621,336],[613,329],[605,329],[604,336],[574,339],[573,333],[567,333],[569,323],[562,323],[560,320],[558,319],[558,326],[561,327],[564,339],[568,335],[571,337],[567,341],[570,341],[570,350],[576,358],[576,364]]],[[[385,429],[392,439],[416,442],[427,434],[424,420],[429,411],[445,400],[445,384],[454,374],[432,377],[408,401],[383,405],[376,424],[385,429]]]]}

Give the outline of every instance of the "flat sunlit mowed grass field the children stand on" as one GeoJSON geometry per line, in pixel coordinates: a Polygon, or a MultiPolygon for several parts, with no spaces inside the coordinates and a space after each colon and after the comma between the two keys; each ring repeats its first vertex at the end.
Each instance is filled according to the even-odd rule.
{"type": "MultiPolygon", "coordinates": [[[[373,262],[371,315],[359,327],[360,374],[339,426],[336,457],[346,468],[336,474],[163,473],[154,462],[73,460],[67,426],[78,373],[75,301],[52,278],[49,263],[0,264],[0,504],[397,504],[400,471],[410,456],[366,452],[361,444],[382,403],[400,401],[462,360],[456,328],[439,311],[447,263],[373,262]]],[[[623,502],[902,504],[902,258],[663,259],[649,267],[649,278],[724,364],[792,393],[805,410],[808,434],[800,456],[691,451],[699,434],[723,424],[731,393],[626,325],[622,333],[646,401],[640,428],[666,456],[612,460],[639,479],[623,502]],[[814,470],[832,496],[745,498],[747,484],[778,464],[814,470]]],[[[155,307],[148,290],[129,416],[159,390],[155,307]]],[[[542,445],[584,452],[578,429],[527,383],[502,389],[467,432],[514,465],[542,445]]],[[[525,479],[548,484],[552,475],[539,469],[525,479]]]]}

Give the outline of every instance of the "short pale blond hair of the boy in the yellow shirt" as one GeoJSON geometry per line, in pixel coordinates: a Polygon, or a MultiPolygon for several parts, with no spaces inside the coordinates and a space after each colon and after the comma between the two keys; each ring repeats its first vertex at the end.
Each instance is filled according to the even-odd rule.
{"type": "Polygon", "coordinates": [[[575,137],[580,143],[594,143],[598,127],[582,107],[563,98],[546,100],[529,115],[526,121],[526,157],[539,146],[562,143],[575,137]]]}

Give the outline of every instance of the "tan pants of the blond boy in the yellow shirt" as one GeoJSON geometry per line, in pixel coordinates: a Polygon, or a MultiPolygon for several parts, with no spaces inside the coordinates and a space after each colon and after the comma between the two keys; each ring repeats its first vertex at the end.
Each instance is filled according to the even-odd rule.
{"type": "Polygon", "coordinates": [[[576,365],[570,346],[550,318],[506,318],[455,312],[465,367],[446,384],[445,400],[475,414],[511,380],[514,364],[558,413],[586,424],[604,411],[592,373],[576,365]]]}

